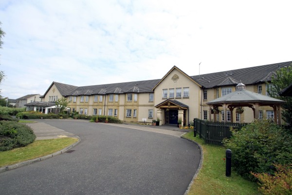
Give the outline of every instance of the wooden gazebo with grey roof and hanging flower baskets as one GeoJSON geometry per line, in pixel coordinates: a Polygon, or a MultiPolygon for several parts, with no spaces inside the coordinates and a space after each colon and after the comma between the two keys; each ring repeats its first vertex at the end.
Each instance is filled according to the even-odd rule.
{"type": "MultiPolygon", "coordinates": [[[[224,113],[226,113],[227,108],[231,112],[231,122],[233,122],[233,110],[237,107],[249,107],[254,111],[254,118],[259,118],[259,107],[260,106],[271,106],[274,109],[274,121],[281,124],[281,104],[285,101],[271,98],[269,96],[264,96],[258,93],[254,93],[245,89],[245,85],[241,82],[237,84],[236,91],[232,92],[221,98],[209,101],[210,110],[218,107],[223,107],[224,113]]],[[[214,114],[214,119],[215,119],[214,114]]],[[[209,115],[211,120],[211,112],[209,115]]],[[[227,117],[224,117],[224,122],[227,122],[227,117]]]]}

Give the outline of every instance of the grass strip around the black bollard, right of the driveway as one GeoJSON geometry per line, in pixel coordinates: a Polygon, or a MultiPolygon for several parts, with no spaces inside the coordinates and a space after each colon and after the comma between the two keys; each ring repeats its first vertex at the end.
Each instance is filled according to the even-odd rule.
{"type": "Polygon", "coordinates": [[[204,144],[194,132],[189,132],[183,137],[199,143],[203,150],[203,163],[199,175],[195,178],[188,195],[258,195],[257,184],[248,181],[236,172],[225,176],[226,164],[223,146],[204,144]]]}

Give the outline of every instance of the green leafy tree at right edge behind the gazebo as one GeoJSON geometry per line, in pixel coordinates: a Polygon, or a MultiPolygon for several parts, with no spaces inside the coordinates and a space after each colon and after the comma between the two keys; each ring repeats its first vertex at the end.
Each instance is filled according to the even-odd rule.
{"type": "Polygon", "coordinates": [[[292,83],[292,67],[280,68],[276,74],[272,76],[271,84],[268,87],[268,93],[272,98],[284,100],[285,103],[281,105],[282,119],[286,123],[292,124],[292,97],[279,96],[280,91],[288,87],[292,83]]]}

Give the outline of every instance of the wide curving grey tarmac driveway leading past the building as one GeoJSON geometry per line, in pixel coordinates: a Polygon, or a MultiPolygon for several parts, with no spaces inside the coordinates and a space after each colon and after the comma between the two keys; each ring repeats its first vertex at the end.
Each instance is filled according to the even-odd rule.
{"type": "Polygon", "coordinates": [[[200,163],[190,141],[102,123],[45,120],[81,141],[0,174],[1,195],[183,195],[200,163]]]}

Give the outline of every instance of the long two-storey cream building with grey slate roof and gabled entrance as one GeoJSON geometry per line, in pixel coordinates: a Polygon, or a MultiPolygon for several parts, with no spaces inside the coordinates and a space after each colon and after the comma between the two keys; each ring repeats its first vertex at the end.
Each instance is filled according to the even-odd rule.
{"type": "MultiPolygon", "coordinates": [[[[189,76],[177,66],[173,66],[163,78],[123,83],[73,86],[53,82],[45,92],[42,101],[55,102],[67,98],[71,112],[84,115],[106,115],[122,121],[138,122],[160,119],[160,124],[177,124],[182,118],[187,125],[194,118],[208,119],[210,107],[206,103],[230,94],[238,83],[246,90],[262,95],[275,71],[291,66],[292,61],[262,65],[237,70],[222,71],[197,76],[189,76]]],[[[220,108],[219,108],[220,109],[220,108]]],[[[258,116],[273,118],[270,106],[259,108],[258,116]]],[[[251,108],[242,114],[232,113],[237,122],[251,122],[254,119],[251,108]]],[[[214,120],[231,119],[231,112],[221,113],[214,120]]]]}

